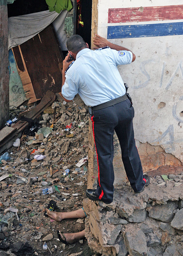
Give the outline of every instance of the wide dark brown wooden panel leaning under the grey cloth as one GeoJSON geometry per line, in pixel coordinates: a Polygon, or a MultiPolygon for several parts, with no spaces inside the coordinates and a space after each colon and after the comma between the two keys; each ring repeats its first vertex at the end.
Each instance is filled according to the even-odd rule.
{"type": "MultiPolygon", "coordinates": [[[[59,47],[51,25],[20,46],[36,99],[42,98],[47,90],[61,90],[59,66],[63,55],[59,47]]],[[[32,97],[32,90],[28,95],[32,97]]]]}

